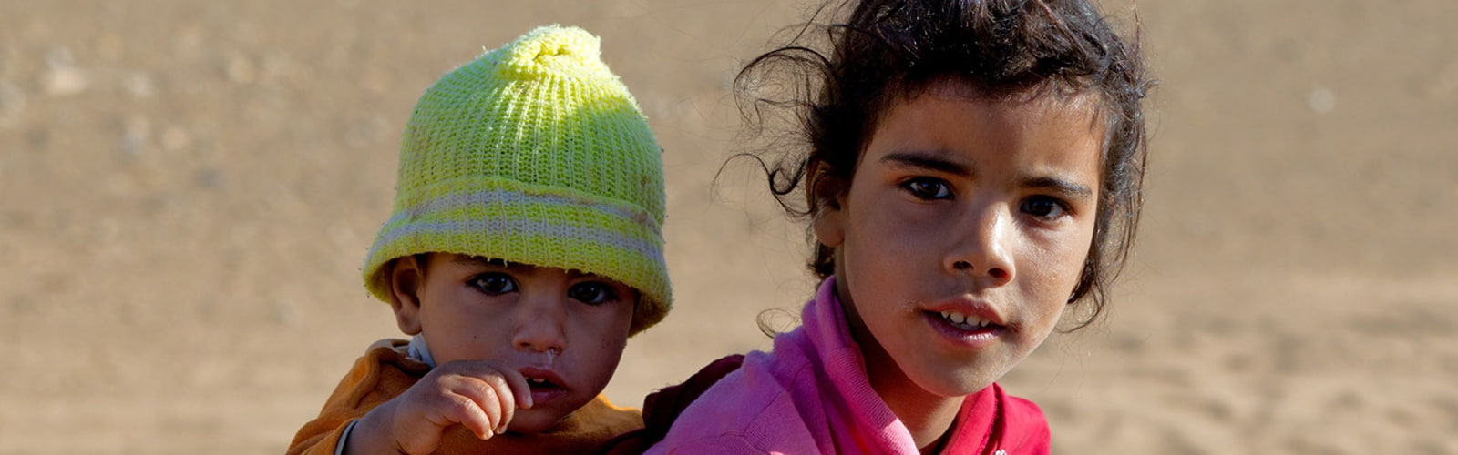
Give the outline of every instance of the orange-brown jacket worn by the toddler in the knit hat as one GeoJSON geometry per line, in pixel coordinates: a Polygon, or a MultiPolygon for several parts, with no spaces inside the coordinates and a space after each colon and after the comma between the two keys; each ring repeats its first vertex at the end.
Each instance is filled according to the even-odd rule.
{"type": "MultiPolygon", "coordinates": [[[[289,455],[332,455],[350,421],[404,394],[430,366],[405,356],[405,340],[381,340],[354,362],[324,402],[319,417],[303,424],[289,455]]],[[[643,414],[620,408],[602,395],[572,413],[557,427],[532,435],[504,433],[480,440],[462,426],[446,429],[436,454],[598,454],[612,438],[643,427],[643,414]]]]}

